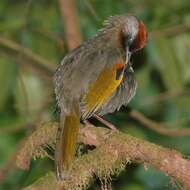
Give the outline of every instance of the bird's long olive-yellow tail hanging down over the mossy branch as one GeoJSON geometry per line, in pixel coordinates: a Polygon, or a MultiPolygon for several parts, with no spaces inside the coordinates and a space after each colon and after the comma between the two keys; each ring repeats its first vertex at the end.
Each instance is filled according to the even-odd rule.
{"type": "Polygon", "coordinates": [[[68,177],[68,171],[75,157],[79,127],[78,108],[75,108],[69,115],[64,116],[61,113],[55,148],[55,167],[59,180],[68,177]]]}

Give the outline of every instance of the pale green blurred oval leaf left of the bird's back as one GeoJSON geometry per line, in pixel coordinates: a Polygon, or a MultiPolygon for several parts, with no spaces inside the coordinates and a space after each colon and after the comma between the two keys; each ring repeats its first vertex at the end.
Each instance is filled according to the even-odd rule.
{"type": "Polygon", "coordinates": [[[20,116],[31,122],[47,101],[46,88],[37,76],[23,72],[17,80],[15,101],[20,116]]]}

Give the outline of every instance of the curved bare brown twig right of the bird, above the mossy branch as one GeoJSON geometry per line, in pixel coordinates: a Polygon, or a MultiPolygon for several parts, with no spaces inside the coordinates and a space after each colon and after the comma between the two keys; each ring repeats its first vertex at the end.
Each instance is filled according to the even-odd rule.
{"type": "Polygon", "coordinates": [[[130,112],[130,116],[136,121],[140,122],[143,126],[153,131],[156,131],[157,133],[160,133],[162,135],[190,136],[190,129],[187,129],[187,128],[167,129],[164,124],[155,122],[136,110],[132,110],[130,112]]]}

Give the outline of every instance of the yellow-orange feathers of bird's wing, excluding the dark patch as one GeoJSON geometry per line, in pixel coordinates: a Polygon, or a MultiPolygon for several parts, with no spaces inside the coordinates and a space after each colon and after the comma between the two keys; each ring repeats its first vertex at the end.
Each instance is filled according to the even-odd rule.
{"type": "Polygon", "coordinates": [[[116,64],[112,68],[105,69],[97,78],[96,82],[89,88],[88,94],[84,97],[85,113],[91,114],[100,108],[104,102],[114,93],[120,85],[123,75],[116,79],[117,68],[121,64],[116,64]]]}

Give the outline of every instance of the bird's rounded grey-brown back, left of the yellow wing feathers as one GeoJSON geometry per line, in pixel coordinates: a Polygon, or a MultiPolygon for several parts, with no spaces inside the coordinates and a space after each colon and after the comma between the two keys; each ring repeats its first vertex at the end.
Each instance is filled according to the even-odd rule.
{"type": "Polygon", "coordinates": [[[81,95],[88,92],[89,85],[119,58],[119,50],[96,46],[92,48],[81,45],[69,53],[54,75],[58,106],[65,113],[70,112],[73,101],[80,101],[81,95]]]}

